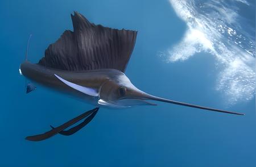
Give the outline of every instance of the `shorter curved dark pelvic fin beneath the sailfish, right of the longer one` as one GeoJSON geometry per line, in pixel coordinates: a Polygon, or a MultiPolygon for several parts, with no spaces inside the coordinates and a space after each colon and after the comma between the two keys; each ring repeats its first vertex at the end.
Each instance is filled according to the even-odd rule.
{"type": "MultiPolygon", "coordinates": [[[[61,135],[64,135],[64,136],[70,136],[70,135],[73,135],[74,133],[76,133],[77,131],[81,130],[81,128],[85,127],[86,124],[88,124],[93,118],[94,116],[97,114],[98,110],[96,111],[93,111],[92,114],[90,114],[90,116],[88,116],[83,122],[81,122],[80,124],[78,124],[77,126],[73,127],[73,128],[70,128],[69,130],[67,131],[60,131],[59,133],[61,135]]],[[[51,128],[55,128],[53,126],[51,126],[51,128]]]]}

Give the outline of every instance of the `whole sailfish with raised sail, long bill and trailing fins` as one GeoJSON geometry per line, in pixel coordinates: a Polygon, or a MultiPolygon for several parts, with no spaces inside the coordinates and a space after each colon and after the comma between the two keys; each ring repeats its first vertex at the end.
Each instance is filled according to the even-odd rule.
{"type": "MultiPolygon", "coordinates": [[[[49,45],[38,63],[32,64],[26,56],[26,60],[20,64],[20,74],[32,82],[78,97],[96,108],[59,127],[51,126],[51,130],[45,133],[27,136],[27,140],[45,140],[58,133],[72,135],[86,126],[100,107],[154,106],[151,101],[243,115],[160,98],[139,90],[125,75],[127,63],[135,46],[137,31],[96,25],[90,23],[79,12],[71,14],[71,18],[73,31],[64,31],[55,43],[49,45]],[[84,121],[77,126],[69,128],[83,119],[84,121]]],[[[27,93],[32,90],[35,90],[35,86],[29,83],[27,93]]]]}

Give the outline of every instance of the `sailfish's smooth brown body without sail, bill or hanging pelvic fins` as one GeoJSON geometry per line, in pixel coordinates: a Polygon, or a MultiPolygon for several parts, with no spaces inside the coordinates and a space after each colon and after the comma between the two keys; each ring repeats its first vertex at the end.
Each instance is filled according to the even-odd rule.
{"type": "MultiPolygon", "coordinates": [[[[120,86],[135,88],[126,75],[115,69],[95,69],[80,72],[56,70],[42,65],[24,62],[20,65],[22,74],[32,81],[52,89],[80,98],[98,107],[130,107],[132,104],[117,104],[113,100],[117,91],[119,95],[120,86]],[[65,79],[64,79],[65,78],[65,79]],[[72,84],[72,85],[71,85],[72,84]],[[115,90],[117,89],[117,90],[115,90]]],[[[136,89],[136,88],[135,88],[136,89]]],[[[125,90],[126,91],[126,90],[125,90]]],[[[138,90],[139,91],[139,90],[138,90]]],[[[139,101],[143,103],[143,101],[139,101]]],[[[149,102],[144,102],[150,104],[149,102]]]]}

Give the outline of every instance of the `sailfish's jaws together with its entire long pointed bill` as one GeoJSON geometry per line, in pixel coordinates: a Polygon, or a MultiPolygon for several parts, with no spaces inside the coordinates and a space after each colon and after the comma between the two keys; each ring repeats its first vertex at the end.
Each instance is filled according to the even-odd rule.
{"type": "Polygon", "coordinates": [[[236,114],[236,115],[245,115],[245,114],[242,114],[242,113],[239,113],[239,112],[220,110],[220,109],[217,109],[217,108],[204,107],[204,106],[199,106],[199,105],[192,105],[190,103],[184,103],[184,102],[179,102],[179,101],[173,101],[171,99],[160,98],[160,97],[156,97],[154,95],[144,93],[143,91],[135,91],[135,92],[133,92],[133,95],[129,95],[126,98],[121,98],[120,99],[120,101],[125,101],[125,100],[126,101],[133,100],[133,101],[137,101],[137,102],[143,102],[144,104],[147,104],[147,105],[155,105],[154,103],[148,102],[147,100],[159,101],[159,102],[171,103],[171,104],[174,104],[174,105],[187,106],[187,107],[192,107],[192,108],[199,108],[199,109],[208,110],[208,111],[224,112],[224,113],[227,113],[227,114],[236,114]]]}

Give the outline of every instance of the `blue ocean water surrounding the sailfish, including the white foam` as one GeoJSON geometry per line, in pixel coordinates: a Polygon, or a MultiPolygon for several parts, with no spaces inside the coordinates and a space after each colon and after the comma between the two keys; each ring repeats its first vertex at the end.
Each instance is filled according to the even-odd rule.
{"type": "Polygon", "coordinates": [[[255,166],[255,1],[224,2],[1,1],[0,166],[255,166]],[[183,14],[187,9],[191,16],[183,14]],[[24,140],[93,108],[44,87],[26,94],[18,71],[28,36],[28,60],[36,63],[64,30],[72,30],[73,11],[96,24],[138,31],[126,75],[139,89],[246,115],[160,102],[101,108],[75,135],[24,140]],[[246,39],[241,43],[240,35],[246,39]],[[169,54],[174,52],[177,57],[169,54]]]}

